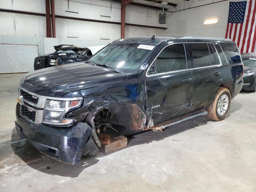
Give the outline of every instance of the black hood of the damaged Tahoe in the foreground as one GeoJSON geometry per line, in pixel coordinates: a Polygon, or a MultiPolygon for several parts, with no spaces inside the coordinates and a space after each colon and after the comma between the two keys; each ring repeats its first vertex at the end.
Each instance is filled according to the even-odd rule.
{"type": "Polygon", "coordinates": [[[101,66],[79,62],[29,72],[20,86],[39,95],[62,97],[68,92],[122,82],[127,77],[101,66]]]}

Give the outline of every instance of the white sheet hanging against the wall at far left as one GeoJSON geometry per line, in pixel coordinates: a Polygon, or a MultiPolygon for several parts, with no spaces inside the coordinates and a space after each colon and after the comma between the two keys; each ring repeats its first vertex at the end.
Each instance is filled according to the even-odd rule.
{"type": "Polygon", "coordinates": [[[0,73],[33,71],[37,56],[36,45],[0,44],[0,73]]]}

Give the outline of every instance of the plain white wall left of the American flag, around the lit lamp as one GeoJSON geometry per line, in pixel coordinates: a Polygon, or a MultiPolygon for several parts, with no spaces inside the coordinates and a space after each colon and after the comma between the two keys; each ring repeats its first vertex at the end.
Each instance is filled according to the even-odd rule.
{"type": "MultiPolygon", "coordinates": [[[[214,2],[217,1],[214,0],[214,2]]],[[[172,8],[173,12],[167,18],[168,29],[165,35],[224,38],[228,22],[229,1],[209,3],[212,3],[212,0],[185,1],[185,3],[178,4],[177,10],[172,8]],[[194,8],[196,6],[200,7],[194,8]],[[183,10],[184,8],[187,10],[183,10]],[[204,25],[204,21],[209,19],[218,19],[218,23],[204,25]]]]}

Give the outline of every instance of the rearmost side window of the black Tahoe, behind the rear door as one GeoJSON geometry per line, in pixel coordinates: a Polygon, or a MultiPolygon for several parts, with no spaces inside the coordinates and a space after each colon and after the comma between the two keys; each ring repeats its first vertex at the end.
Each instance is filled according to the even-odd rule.
{"type": "Polygon", "coordinates": [[[229,64],[240,63],[241,57],[236,44],[220,43],[229,64]]]}

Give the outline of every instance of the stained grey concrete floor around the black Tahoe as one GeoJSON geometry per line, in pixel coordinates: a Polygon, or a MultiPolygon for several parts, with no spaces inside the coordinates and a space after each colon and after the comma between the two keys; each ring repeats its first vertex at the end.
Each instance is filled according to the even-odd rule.
{"type": "Polygon", "coordinates": [[[206,117],[155,133],[128,147],[86,156],[78,166],[40,154],[14,130],[22,74],[0,75],[0,191],[256,191],[256,94],[232,100],[221,122],[206,117]]]}

